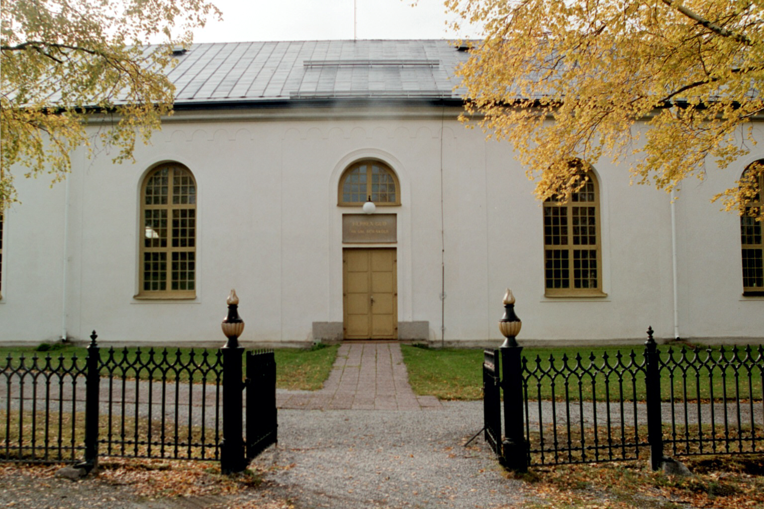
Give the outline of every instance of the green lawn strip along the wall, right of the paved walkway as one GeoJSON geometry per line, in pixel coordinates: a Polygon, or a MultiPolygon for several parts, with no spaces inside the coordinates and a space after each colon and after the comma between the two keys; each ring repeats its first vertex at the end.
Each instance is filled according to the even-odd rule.
{"type": "MultiPolygon", "coordinates": [[[[416,394],[435,395],[445,400],[481,398],[483,350],[431,349],[405,345],[402,348],[409,380],[416,394]]],[[[672,347],[672,359],[675,361],[681,358],[680,349],[672,347]]],[[[706,347],[697,352],[688,350],[685,355],[691,358],[697,353],[699,359],[704,361],[708,355],[706,350],[706,347]]],[[[719,347],[714,346],[710,350],[711,355],[718,359],[719,347]]],[[[729,347],[725,351],[725,357],[730,359],[732,354],[729,347]]],[[[534,373],[528,379],[529,398],[604,401],[607,397],[610,401],[644,401],[644,372],[636,367],[643,363],[643,347],[636,346],[633,349],[633,364],[631,352],[632,349],[620,346],[525,347],[523,357],[526,359],[526,369],[534,373]],[[605,354],[609,367],[604,367],[605,354]],[[574,366],[577,369],[573,370],[574,366]],[[610,368],[614,366],[618,366],[617,371],[623,373],[622,380],[617,372],[611,372],[610,368]]],[[[659,352],[666,362],[670,355],[669,346],[659,346],[659,352]]],[[[756,356],[756,353],[752,355],[756,356]]],[[[691,368],[688,362],[669,362],[669,366],[674,367],[673,379],[669,369],[662,370],[663,401],[684,400],[685,395],[688,400],[698,399],[698,396],[701,400],[711,399],[711,391],[714,401],[721,401],[724,395],[728,400],[762,398],[762,375],[759,368],[753,369],[749,386],[749,374],[745,368],[739,370],[740,379],[736,379],[732,369],[727,369],[724,373],[726,376],[722,376],[719,366],[708,363],[696,362],[694,366],[701,366],[700,369],[691,368]],[[709,374],[713,376],[710,378],[709,374]]]]}

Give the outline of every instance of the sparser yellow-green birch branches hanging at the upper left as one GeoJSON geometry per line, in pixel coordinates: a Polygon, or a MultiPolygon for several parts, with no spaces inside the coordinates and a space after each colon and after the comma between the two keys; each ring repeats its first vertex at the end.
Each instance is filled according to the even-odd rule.
{"type": "Polygon", "coordinates": [[[0,0],[0,10],[0,212],[17,199],[11,166],[56,182],[78,147],[130,159],[172,112],[173,47],[220,16],[206,0],[0,0]]]}

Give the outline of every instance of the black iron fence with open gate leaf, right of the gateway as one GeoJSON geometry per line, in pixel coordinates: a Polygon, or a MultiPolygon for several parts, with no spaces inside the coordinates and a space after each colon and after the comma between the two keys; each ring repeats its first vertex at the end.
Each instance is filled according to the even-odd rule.
{"type": "MultiPolygon", "coordinates": [[[[764,450],[764,347],[659,350],[652,329],[648,335],[643,352],[614,356],[487,350],[486,359],[500,351],[504,369],[503,444],[486,431],[497,456],[517,469],[641,458],[658,469],[664,454],[764,450]],[[522,408],[507,404],[518,391],[522,408]],[[518,457],[524,461],[513,466],[518,457]]],[[[486,430],[500,411],[490,386],[496,375],[484,362],[486,430]]]]}

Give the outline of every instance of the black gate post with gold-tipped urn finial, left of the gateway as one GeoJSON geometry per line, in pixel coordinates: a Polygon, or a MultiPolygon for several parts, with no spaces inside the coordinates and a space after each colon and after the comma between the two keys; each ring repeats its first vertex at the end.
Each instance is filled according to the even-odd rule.
{"type": "Polygon", "coordinates": [[[220,442],[220,469],[224,474],[241,472],[247,468],[242,437],[242,391],[241,362],[244,348],[238,337],[244,331],[244,321],[238,315],[236,291],[226,299],[228,316],[221,327],[228,341],[220,349],[223,357],[223,439],[220,442]]]}

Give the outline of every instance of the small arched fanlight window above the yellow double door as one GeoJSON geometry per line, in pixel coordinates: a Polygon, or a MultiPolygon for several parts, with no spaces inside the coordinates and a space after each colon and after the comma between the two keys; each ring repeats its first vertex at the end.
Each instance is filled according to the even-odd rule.
{"type": "Polygon", "coordinates": [[[338,205],[400,205],[398,178],[386,164],[374,159],[354,163],[339,179],[338,205]]]}

